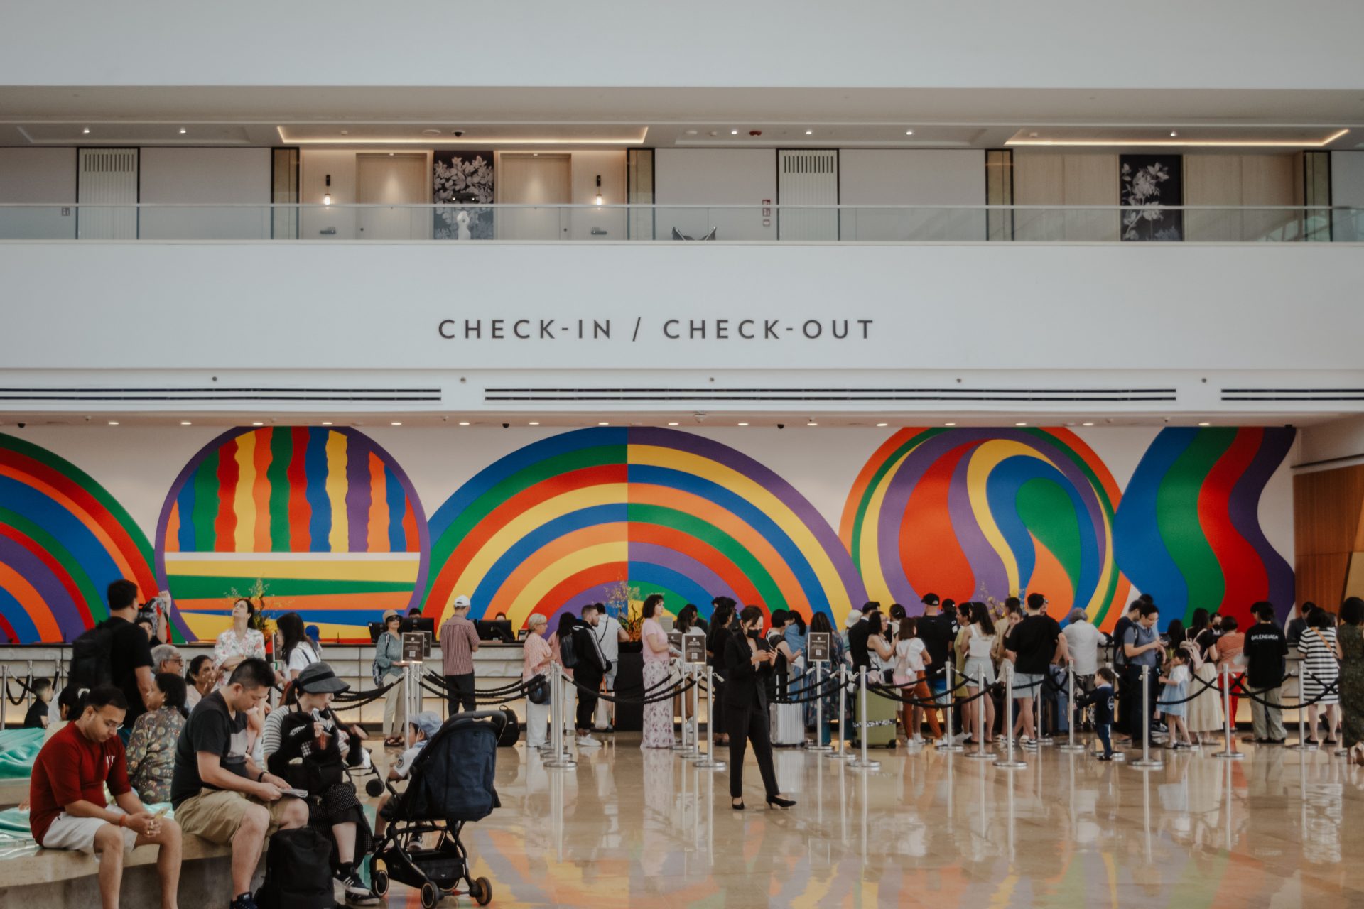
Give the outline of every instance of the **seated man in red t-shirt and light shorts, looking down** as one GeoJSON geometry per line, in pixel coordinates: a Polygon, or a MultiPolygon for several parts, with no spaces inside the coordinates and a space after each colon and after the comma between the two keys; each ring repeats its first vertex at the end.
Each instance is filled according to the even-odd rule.
{"type": "Polygon", "coordinates": [[[100,853],[100,898],[119,909],[124,850],[155,844],[161,906],[176,909],[180,826],[147,811],[128,784],[119,728],[128,700],[113,685],[91,688],[85,710],[42,745],[29,784],[29,826],[44,849],[100,853]],[[104,786],[117,807],[105,805],[104,786]]]}

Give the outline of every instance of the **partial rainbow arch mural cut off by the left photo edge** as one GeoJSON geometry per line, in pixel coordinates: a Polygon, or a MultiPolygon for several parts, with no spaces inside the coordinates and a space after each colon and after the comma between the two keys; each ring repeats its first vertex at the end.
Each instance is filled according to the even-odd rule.
{"type": "Polygon", "coordinates": [[[123,506],[70,461],[0,433],[0,635],[74,641],[108,617],[105,587],[119,578],[143,600],[158,590],[151,546],[123,506]]]}

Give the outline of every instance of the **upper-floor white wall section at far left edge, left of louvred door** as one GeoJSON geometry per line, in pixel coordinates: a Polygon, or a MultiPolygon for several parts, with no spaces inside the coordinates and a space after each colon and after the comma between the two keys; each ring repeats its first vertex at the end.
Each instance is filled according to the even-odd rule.
{"type": "Polygon", "coordinates": [[[0,149],[0,240],[70,240],[76,236],[75,149],[0,149]]]}

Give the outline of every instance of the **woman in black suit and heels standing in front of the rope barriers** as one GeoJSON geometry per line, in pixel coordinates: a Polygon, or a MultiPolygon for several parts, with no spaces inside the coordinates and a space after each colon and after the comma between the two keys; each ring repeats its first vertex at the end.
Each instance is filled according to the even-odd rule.
{"type": "Polygon", "coordinates": [[[749,740],[758,759],[767,803],[790,808],[772,769],[772,741],[768,739],[765,676],[772,673],[776,653],[762,639],[762,611],[743,606],[739,628],[724,642],[724,729],[730,733],[730,797],[735,811],[743,810],[743,755],[749,740]]]}

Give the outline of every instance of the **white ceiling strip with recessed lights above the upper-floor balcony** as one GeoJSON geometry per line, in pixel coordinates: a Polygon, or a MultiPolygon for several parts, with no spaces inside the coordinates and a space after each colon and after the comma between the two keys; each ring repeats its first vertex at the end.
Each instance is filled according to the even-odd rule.
{"type": "Polygon", "coordinates": [[[1178,142],[1364,147],[1364,90],[0,87],[4,146],[951,149],[1031,132],[1170,144],[1170,131],[1178,142]]]}

